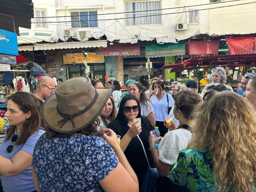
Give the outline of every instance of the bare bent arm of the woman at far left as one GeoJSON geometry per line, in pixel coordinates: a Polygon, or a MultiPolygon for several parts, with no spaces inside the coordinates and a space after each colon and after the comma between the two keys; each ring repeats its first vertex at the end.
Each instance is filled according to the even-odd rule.
{"type": "Polygon", "coordinates": [[[32,155],[22,149],[13,158],[0,155],[0,173],[5,177],[15,176],[25,171],[32,164],[32,155]]]}

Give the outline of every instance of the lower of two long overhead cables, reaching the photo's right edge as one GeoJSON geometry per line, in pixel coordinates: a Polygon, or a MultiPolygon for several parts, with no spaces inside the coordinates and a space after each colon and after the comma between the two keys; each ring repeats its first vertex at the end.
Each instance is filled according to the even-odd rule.
{"type": "MultiPolygon", "coordinates": [[[[226,5],[226,6],[221,6],[221,7],[212,7],[212,8],[206,8],[206,9],[198,9],[197,11],[202,11],[202,10],[210,10],[210,9],[218,9],[218,8],[224,8],[224,7],[233,7],[237,5],[245,5],[245,4],[251,4],[251,3],[256,3],[256,2],[249,2],[249,3],[241,3],[241,4],[235,4],[235,5],[226,5]]],[[[151,16],[160,16],[160,15],[170,15],[170,14],[176,14],[176,13],[187,13],[191,12],[189,11],[181,11],[181,12],[174,12],[174,13],[164,13],[164,14],[155,14],[155,15],[148,15],[148,16],[136,16],[136,17],[126,17],[126,18],[115,18],[115,19],[95,19],[95,20],[90,20],[90,21],[106,21],[106,20],[116,20],[116,19],[134,19],[134,18],[142,18],[142,17],[151,17],[151,16]]],[[[65,22],[86,22],[89,20],[80,20],[80,21],[65,21],[65,22]]],[[[32,23],[61,23],[62,21],[59,22],[32,22],[32,23]]],[[[65,23],[64,22],[64,23],[65,23]]],[[[63,22],[62,22],[63,23],[63,22]]]]}

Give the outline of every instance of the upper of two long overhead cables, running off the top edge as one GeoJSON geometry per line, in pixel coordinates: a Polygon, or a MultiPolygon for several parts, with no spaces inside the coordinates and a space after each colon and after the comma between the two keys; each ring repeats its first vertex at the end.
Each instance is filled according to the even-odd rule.
{"type": "MultiPolygon", "coordinates": [[[[199,5],[188,5],[188,6],[183,6],[183,7],[171,7],[171,8],[164,8],[164,9],[152,9],[152,10],[148,10],[148,11],[179,9],[179,8],[184,8],[184,7],[196,7],[196,6],[203,6],[203,5],[210,5],[210,4],[228,3],[228,2],[234,2],[234,1],[241,1],[241,0],[206,3],[206,4],[199,4],[199,5]]],[[[101,13],[101,14],[93,14],[93,15],[90,15],[90,16],[94,16],[94,15],[113,15],[113,14],[123,14],[123,13],[127,14],[127,13],[139,13],[139,12],[145,12],[145,10],[143,10],[143,11],[119,12],[119,13],[101,13]]],[[[80,16],[80,15],[73,15],[72,17],[75,17],[75,16],[80,16]]],[[[82,15],[82,16],[84,16],[84,15],[82,15]]],[[[56,18],[56,17],[71,17],[71,16],[51,16],[51,17],[34,17],[34,18],[56,18]]]]}

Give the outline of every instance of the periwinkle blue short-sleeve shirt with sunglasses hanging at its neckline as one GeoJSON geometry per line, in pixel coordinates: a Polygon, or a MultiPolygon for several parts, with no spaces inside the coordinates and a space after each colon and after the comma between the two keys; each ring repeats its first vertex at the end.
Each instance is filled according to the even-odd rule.
{"type": "MultiPolygon", "coordinates": [[[[8,124],[6,127],[5,135],[7,133],[7,130],[9,129],[9,127],[10,127],[10,125],[8,124]]],[[[17,134],[16,131],[15,131],[15,134],[17,134]]],[[[0,155],[4,156],[5,158],[11,159],[20,150],[23,150],[23,151],[33,155],[35,144],[42,134],[44,134],[43,130],[36,131],[22,145],[18,145],[18,146],[14,145],[12,152],[9,154],[6,151],[6,149],[9,145],[13,145],[13,143],[11,142],[11,139],[4,140],[0,147],[0,155]]],[[[15,176],[10,176],[10,177],[2,176],[2,186],[3,186],[3,190],[5,192],[34,191],[35,187],[34,187],[34,183],[32,180],[31,166],[15,176]]]]}

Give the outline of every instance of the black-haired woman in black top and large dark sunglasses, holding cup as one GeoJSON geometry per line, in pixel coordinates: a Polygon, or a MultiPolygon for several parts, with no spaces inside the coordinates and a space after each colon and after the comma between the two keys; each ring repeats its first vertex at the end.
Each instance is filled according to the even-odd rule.
{"type": "Polygon", "coordinates": [[[122,98],[117,117],[108,125],[108,128],[121,136],[120,147],[138,177],[141,190],[148,164],[137,135],[144,145],[150,167],[155,167],[148,143],[149,132],[153,129],[149,120],[141,116],[140,103],[134,95],[126,95],[122,98]],[[140,117],[141,127],[137,125],[138,121],[134,123],[134,119],[140,117]]]}

